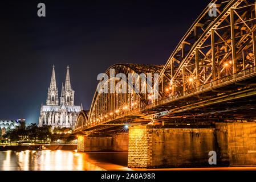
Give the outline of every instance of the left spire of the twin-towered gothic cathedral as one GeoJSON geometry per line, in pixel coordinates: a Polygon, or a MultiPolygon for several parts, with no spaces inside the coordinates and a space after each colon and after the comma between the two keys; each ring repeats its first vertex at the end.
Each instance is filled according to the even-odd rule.
{"type": "Polygon", "coordinates": [[[58,97],[58,89],[56,87],[54,65],[52,66],[51,83],[50,83],[50,87],[48,88],[46,105],[59,105],[59,97],[58,97]]]}

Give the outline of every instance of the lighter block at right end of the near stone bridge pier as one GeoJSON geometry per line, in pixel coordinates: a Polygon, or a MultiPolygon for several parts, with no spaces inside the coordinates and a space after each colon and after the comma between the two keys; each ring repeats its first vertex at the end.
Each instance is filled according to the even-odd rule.
{"type": "Polygon", "coordinates": [[[229,166],[256,165],[255,122],[216,123],[216,137],[229,166]]]}

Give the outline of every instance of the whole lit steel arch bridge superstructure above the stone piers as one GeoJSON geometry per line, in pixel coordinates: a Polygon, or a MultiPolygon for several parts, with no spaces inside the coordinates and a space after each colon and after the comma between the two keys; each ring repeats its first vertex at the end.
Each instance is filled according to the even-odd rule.
{"type": "MultiPolygon", "coordinates": [[[[105,72],[109,78],[104,81],[107,85],[111,84],[112,69],[115,74],[124,73],[127,77],[129,73],[159,73],[154,92],[133,90],[124,94],[96,90],[88,117],[81,111],[76,130],[111,130],[124,123],[152,123],[157,118],[182,117],[188,111],[199,116],[209,113],[214,104],[254,97],[255,28],[255,1],[211,1],[165,65],[115,64],[105,72]],[[216,16],[209,16],[209,11],[214,10],[216,16]],[[203,108],[200,114],[193,112],[200,108],[203,108]]],[[[118,80],[113,82],[118,84],[118,80]]],[[[143,88],[141,79],[140,87],[143,88]]]]}

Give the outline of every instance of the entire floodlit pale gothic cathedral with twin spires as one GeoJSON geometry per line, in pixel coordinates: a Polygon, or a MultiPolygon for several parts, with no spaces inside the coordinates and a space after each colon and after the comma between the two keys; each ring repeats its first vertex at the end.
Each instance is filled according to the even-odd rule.
{"type": "Polygon", "coordinates": [[[41,105],[39,125],[49,125],[54,127],[68,127],[75,129],[76,119],[80,110],[80,106],[74,105],[75,91],[71,88],[70,72],[67,66],[67,75],[65,85],[62,83],[62,92],[60,98],[58,96],[58,88],[56,87],[56,78],[54,66],[52,67],[51,83],[48,88],[46,105],[41,105]]]}

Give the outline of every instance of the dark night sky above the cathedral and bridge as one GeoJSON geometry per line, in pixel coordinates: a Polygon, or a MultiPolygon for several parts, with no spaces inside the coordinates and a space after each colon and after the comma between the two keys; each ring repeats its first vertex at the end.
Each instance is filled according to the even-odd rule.
{"type": "Polygon", "coordinates": [[[115,63],[165,64],[210,1],[1,1],[0,119],[38,123],[52,64],[70,66],[75,104],[90,109],[96,77],[115,63]],[[46,17],[38,17],[38,3],[46,17]],[[196,3],[194,3],[196,2],[196,3]]]}

